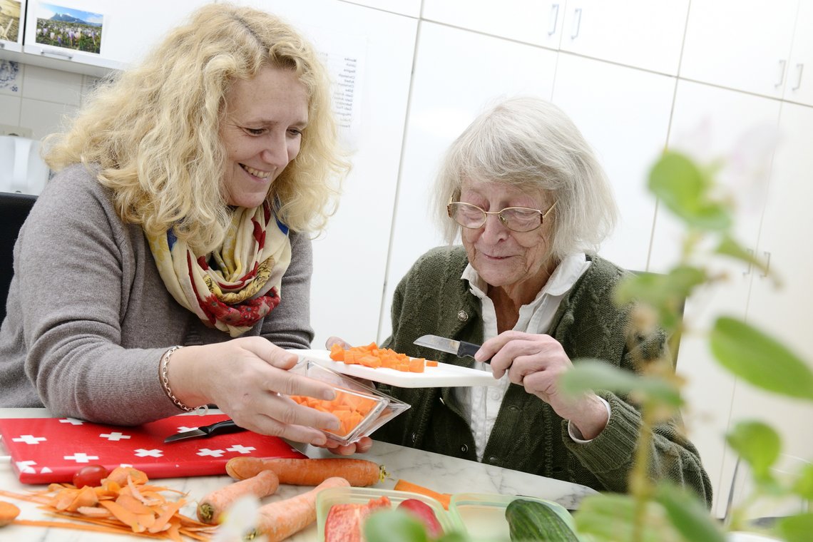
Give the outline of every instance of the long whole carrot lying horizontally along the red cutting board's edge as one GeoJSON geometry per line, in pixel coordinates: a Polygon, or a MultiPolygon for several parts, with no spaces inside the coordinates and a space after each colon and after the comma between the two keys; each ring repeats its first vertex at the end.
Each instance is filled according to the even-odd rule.
{"type": "Polygon", "coordinates": [[[385,479],[384,466],[366,459],[327,457],[324,459],[263,459],[260,457],[232,457],[226,463],[226,472],[234,479],[246,479],[261,470],[273,470],[280,483],[315,486],[333,476],[361,488],[385,479]]]}

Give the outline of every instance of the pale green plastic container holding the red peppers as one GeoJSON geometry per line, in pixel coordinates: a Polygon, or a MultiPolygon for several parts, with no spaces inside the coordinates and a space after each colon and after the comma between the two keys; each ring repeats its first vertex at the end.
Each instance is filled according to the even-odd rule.
{"type": "Polygon", "coordinates": [[[324,541],[324,522],[328,518],[331,506],[345,504],[366,505],[371,499],[379,499],[382,496],[389,499],[393,509],[406,499],[423,501],[433,509],[437,522],[443,527],[444,533],[463,531],[463,525],[458,522],[457,518],[453,514],[446,512],[443,505],[431,496],[406,491],[394,491],[393,489],[328,488],[316,495],[316,525],[319,529],[319,540],[324,541]]]}

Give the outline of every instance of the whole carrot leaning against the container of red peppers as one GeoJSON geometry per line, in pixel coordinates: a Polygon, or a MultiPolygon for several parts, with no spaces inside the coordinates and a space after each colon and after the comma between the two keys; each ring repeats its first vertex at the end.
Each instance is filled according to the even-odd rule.
{"type": "Polygon", "coordinates": [[[324,480],[309,492],[261,506],[257,527],[246,535],[246,539],[253,540],[260,535],[266,535],[267,542],[285,540],[316,521],[316,495],[320,491],[349,486],[350,483],[346,479],[334,476],[324,480]]]}

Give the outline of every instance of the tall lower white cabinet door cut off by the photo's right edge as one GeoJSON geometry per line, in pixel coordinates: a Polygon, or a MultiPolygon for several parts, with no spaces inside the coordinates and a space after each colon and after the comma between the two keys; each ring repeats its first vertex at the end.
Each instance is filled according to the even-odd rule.
{"type": "MultiPolygon", "coordinates": [[[[754,276],[748,321],[776,337],[813,369],[813,108],[785,103],[780,116],[780,143],[773,160],[767,206],[759,234],[759,256],[781,281],[754,276]]],[[[813,405],[737,382],[732,419],[760,419],[780,431],[783,453],[811,460],[813,405]]],[[[730,454],[728,462],[736,457],[730,454]]]]}

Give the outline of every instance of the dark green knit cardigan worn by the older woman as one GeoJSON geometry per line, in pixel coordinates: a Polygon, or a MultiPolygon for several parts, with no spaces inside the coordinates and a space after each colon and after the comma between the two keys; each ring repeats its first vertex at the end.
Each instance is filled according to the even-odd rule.
{"type": "MultiPolygon", "coordinates": [[[[612,290],[625,271],[598,257],[563,298],[548,333],[572,359],[598,358],[634,371],[627,348],[630,307],[617,307],[612,290]]],[[[424,254],[398,284],[393,297],[393,335],[382,345],[413,357],[472,366],[468,358],[420,348],[424,334],[483,341],[480,301],[460,275],[467,265],[463,247],[441,247],[424,254]],[[468,360],[468,361],[467,361],[468,360]]],[[[637,354],[653,358],[665,348],[663,332],[639,337],[637,354]]],[[[380,386],[412,405],[372,437],[476,461],[474,437],[451,388],[380,386]]],[[[604,430],[587,444],[567,434],[567,421],[544,401],[511,384],[483,454],[483,461],[535,475],[581,483],[602,491],[626,492],[641,414],[626,397],[597,390],[612,414],[604,430]]],[[[659,423],[651,446],[654,479],[671,479],[692,488],[711,506],[711,482],[697,449],[682,436],[680,420],[659,423]]]]}

